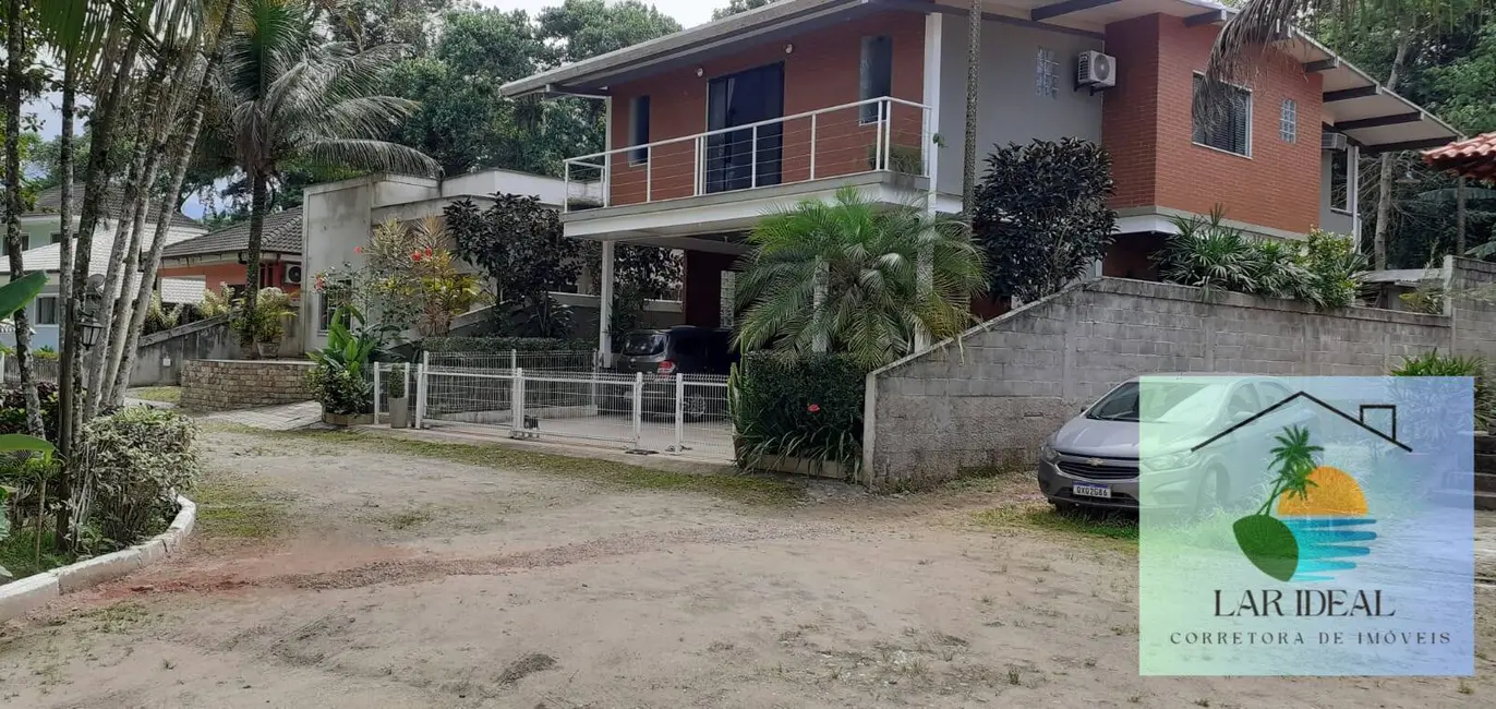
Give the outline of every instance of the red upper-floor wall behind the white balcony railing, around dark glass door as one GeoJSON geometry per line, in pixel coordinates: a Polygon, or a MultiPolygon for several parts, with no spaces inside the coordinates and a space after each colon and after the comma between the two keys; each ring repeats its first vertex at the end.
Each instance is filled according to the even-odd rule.
{"type": "MultiPolygon", "coordinates": [[[[681,138],[706,130],[708,81],[776,61],[784,63],[784,115],[857,100],[862,37],[886,34],[893,39],[893,96],[923,99],[925,21],[920,13],[883,12],[788,39],[767,42],[733,55],[684,66],[610,87],[613,96],[613,148],[628,145],[628,108],[634,96],[649,96],[649,142],[681,138]],[[784,46],[794,51],[784,52],[784,46]]],[[[815,126],[815,177],[835,177],[869,169],[869,150],[875,145],[877,126],[859,126],[857,109],[823,114],[815,126]]],[[[811,120],[782,123],[784,148],[781,184],[809,178],[811,120]]],[[[920,144],[920,111],[901,106],[893,112],[893,144],[920,144]]],[[[652,153],[654,168],[648,181],[652,200],[693,194],[694,141],[664,145],[652,153]]],[[[630,166],[622,157],[613,162],[613,205],[645,200],[645,166],[630,166]]]]}

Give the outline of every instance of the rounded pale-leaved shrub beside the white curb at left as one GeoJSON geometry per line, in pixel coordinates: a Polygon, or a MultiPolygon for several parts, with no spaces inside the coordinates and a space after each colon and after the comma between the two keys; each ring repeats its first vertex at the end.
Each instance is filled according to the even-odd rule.
{"type": "Polygon", "coordinates": [[[129,546],[171,524],[177,494],[191,491],[202,467],[196,438],[191,419],[148,407],[126,407],[84,426],[84,461],[94,480],[88,522],[109,546],[129,546]]]}

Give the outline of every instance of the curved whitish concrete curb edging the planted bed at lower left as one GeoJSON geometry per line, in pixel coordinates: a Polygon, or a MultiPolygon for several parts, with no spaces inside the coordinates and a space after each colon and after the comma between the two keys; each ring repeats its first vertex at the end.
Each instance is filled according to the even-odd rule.
{"type": "Polygon", "coordinates": [[[177,553],[197,522],[197,506],[191,500],[177,495],[177,504],[181,510],[172,525],[147,541],[0,586],[0,622],[19,618],[58,595],[118,579],[177,553]]]}

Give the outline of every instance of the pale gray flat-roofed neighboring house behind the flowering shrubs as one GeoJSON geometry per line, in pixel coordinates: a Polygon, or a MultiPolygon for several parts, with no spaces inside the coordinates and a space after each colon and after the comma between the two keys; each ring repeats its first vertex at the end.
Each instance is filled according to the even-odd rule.
{"type": "MultiPolygon", "coordinates": [[[[583,199],[597,197],[595,191],[589,194],[573,191],[583,199]]],[[[370,242],[378,224],[390,220],[411,224],[426,217],[441,217],[447,205],[462,199],[471,199],[482,209],[492,203],[495,193],[536,196],[542,203],[555,208],[561,206],[567,194],[561,179],[498,169],[446,179],[380,174],[311,185],[302,199],[301,229],[307,283],[310,284],[319,272],[362,266],[365,257],[356,250],[370,242]]],[[[554,296],[573,308],[597,308],[597,298],[591,295],[591,278],[580,281],[577,293],[554,293],[554,296]]],[[[655,307],[669,308],[661,304],[655,307]]],[[[307,347],[326,344],[332,310],[320,293],[308,293],[308,298],[301,299],[302,341],[307,347]]],[[[473,317],[459,317],[455,325],[473,317]]]]}

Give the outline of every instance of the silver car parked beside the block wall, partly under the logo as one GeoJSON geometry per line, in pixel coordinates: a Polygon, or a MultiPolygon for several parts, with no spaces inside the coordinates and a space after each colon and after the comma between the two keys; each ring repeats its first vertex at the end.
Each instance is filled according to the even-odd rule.
{"type": "MultiPolygon", "coordinates": [[[[1056,509],[1137,510],[1140,480],[1161,507],[1233,507],[1252,491],[1231,483],[1225,461],[1252,456],[1266,464],[1267,447],[1245,435],[1200,452],[1191,447],[1290,396],[1282,383],[1269,377],[1150,375],[1146,411],[1147,422],[1158,428],[1150,428],[1149,435],[1168,443],[1149,450],[1147,470],[1140,476],[1138,393],[1137,378],[1123,381],[1044,441],[1038,486],[1056,509]]],[[[1269,416],[1297,419],[1302,413],[1284,410],[1269,416]]]]}

